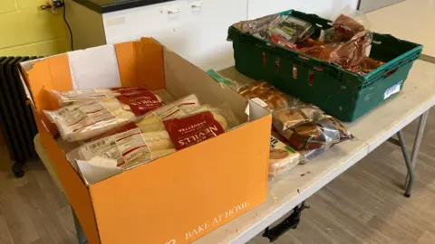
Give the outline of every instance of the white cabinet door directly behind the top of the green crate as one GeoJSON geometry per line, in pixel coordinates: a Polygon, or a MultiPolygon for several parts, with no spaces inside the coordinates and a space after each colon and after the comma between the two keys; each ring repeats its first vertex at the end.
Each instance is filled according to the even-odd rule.
{"type": "Polygon", "coordinates": [[[248,2],[248,19],[276,14],[289,9],[330,18],[334,12],[333,5],[339,5],[336,2],[343,2],[343,0],[248,0],[248,2]]]}

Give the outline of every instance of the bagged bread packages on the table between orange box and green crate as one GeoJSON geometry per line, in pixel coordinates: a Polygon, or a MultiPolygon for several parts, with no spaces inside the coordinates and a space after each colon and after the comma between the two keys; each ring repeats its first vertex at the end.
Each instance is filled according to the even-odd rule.
{"type": "Polygon", "coordinates": [[[305,164],[331,146],[353,135],[335,118],[320,108],[293,99],[266,81],[253,81],[223,71],[208,70],[208,74],[246,99],[268,109],[273,115],[270,136],[269,176],[290,171],[297,164],[305,164]],[[229,75],[228,75],[229,74],[229,75]]]}

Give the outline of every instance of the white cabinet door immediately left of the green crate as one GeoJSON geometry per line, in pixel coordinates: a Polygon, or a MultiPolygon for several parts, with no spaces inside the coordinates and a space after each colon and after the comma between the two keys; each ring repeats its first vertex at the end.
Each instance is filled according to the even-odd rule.
{"type": "Polygon", "coordinates": [[[187,0],[189,36],[185,57],[203,70],[234,64],[232,42],[227,42],[231,24],[247,20],[247,0],[187,0]]]}

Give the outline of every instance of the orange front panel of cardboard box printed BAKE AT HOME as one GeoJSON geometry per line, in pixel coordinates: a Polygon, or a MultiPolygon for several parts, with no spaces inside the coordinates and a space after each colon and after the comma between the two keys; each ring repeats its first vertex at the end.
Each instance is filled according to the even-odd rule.
{"type": "Polygon", "coordinates": [[[269,115],[91,185],[102,243],[188,243],[266,201],[270,127],[269,115]]]}

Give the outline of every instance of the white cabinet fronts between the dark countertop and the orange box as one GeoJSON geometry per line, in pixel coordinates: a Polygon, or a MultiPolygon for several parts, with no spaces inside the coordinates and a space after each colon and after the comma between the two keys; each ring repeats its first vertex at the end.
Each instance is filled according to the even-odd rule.
{"type": "Polygon", "coordinates": [[[152,36],[207,70],[217,62],[232,63],[227,29],[247,19],[247,0],[177,0],[102,14],[102,19],[107,43],[152,36]]]}

